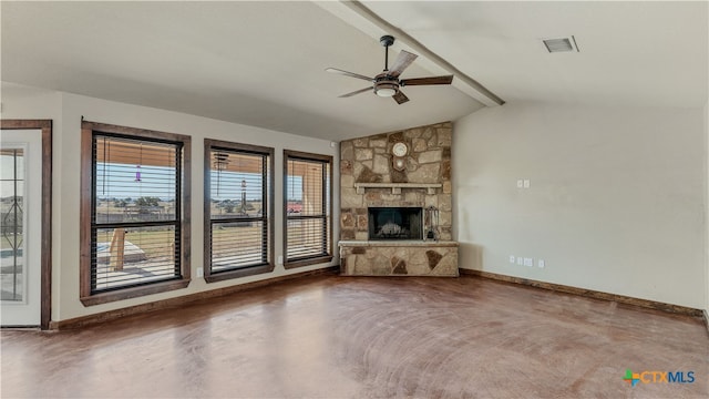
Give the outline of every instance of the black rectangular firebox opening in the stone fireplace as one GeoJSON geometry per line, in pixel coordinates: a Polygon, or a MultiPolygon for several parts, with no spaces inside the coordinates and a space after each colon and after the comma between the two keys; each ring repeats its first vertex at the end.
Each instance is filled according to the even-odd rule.
{"type": "Polygon", "coordinates": [[[369,239],[423,239],[423,208],[370,207],[369,239]]]}

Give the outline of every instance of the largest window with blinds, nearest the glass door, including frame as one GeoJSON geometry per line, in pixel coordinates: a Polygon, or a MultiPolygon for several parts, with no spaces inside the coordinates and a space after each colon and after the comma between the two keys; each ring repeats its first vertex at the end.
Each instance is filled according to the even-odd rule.
{"type": "Polygon", "coordinates": [[[188,136],[82,122],[81,300],[189,284],[188,136]]]}

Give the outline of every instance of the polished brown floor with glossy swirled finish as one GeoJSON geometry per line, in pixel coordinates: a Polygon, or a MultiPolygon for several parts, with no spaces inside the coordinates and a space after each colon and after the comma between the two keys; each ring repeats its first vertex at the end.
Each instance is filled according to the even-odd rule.
{"type": "Polygon", "coordinates": [[[709,392],[698,319],[475,277],[307,277],[79,330],[3,330],[0,342],[2,398],[709,392]],[[686,382],[646,374],[631,387],[627,369],[686,382]]]}

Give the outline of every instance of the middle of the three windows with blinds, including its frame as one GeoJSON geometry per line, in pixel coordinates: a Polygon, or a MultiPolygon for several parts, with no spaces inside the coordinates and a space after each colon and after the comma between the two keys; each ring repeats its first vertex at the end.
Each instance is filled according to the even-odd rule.
{"type": "Polygon", "coordinates": [[[274,149],[205,140],[205,279],[268,273],[274,149]]]}

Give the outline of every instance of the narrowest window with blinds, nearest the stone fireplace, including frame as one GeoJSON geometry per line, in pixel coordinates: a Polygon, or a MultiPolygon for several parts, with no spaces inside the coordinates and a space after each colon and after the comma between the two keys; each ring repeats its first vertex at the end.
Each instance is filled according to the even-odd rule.
{"type": "Polygon", "coordinates": [[[332,157],[284,151],[286,268],[327,263],[331,250],[332,157]]]}

